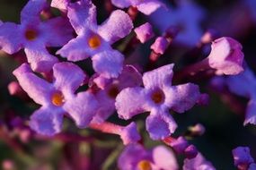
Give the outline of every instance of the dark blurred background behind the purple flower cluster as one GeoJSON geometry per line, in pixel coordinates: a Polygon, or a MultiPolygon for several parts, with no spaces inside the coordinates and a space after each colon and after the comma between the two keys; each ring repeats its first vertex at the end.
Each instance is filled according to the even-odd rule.
{"type": "MultiPolygon", "coordinates": [[[[0,20],[19,23],[20,12],[27,2],[0,0],[0,20]]],[[[181,28],[172,45],[154,64],[155,68],[174,63],[174,69],[180,70],[206,57],[209,45],[199,51],[196,49],[202,35],[211,29],[216,32],[216,37],[232,37],[241,42],[246,63],[252,71],[256,71],[255,0],[194,0],[187,1],[189,4],[182,4],[183,2],[186,1],[166,0],[164,4],[167,4],[170,11],[160,10],[151,16],[139,13],[137,16],[135,26],[149,21],[158,35],[170,25],[181,28]]],[[[93,4],[97,6],[98,21],[104,21],[108,17],[107,7],[110,2],[94,0],[93,4]]],[[[111,8],[115,9],[113,6],[111,8]]],[[[51,9],[50,13],[59,14],[57,9],[51,9]]],[[[119,41],[115,46],[121,49],[125,42],[126,40],[119,41]]],[[[153,42],[154,40],[150,40],[144,45],[137,44],[132,51],[126,52],[127,63],[138,65],[141,72],[151,70],[148,58],[151,52],[149,47],[153,42]]],[[[26,62],[22,51],[15,55],[6,55],[0,51],[0,169],[118,169],[116,161],[124,148],[118,136],[90,129],[79,130],[69,120],[64,124],[63,133],[56,137],[42,137],[30,131],[27,126],[29,117],[39,106],[22,90],[11,95],[12,91],[8,89],[12,86],[10,83],[15,81],[13,70],[22,62],[26,62]],[[65,134],[71,135],[75,140],[66,138],[65,134]]],[[[90,62],[78,64],[92,75],[90,62]]],[[[243,126],[248,98],[216,90],[209,77],[193,77],[185,81],[199,84],[201,91],[210,96],[210,101],[208,106],[194,106],[185,114],[172,113],[179,124],[174,136],[187,135],[189,126],[203,124],[206,132],[199,137],[189,135],[188,139],[216,169],[235,169],[231,150],[237,146],[248,146],[252,157],[256,159],[256,126],[243,126]]],[[[138,123],[146,147],[152,148],[161,142],[149,139],[144,124],[146,115],[138,115],[133,120],[138,123]]],[[[112,115],[109,121],[128,124],[117,115],[112,115]]],[[[183,157],[177,158],[182,166],[183,157]]]]}

